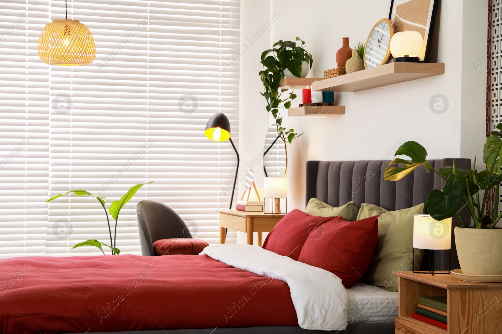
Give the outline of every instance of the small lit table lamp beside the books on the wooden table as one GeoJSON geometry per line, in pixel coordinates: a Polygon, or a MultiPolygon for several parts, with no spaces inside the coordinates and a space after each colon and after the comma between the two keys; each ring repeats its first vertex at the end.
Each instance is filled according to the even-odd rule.
{"type": "Polygon", "coordinates": [[[288,197],[287,177],[264,177],[263,178],[263,212],[286,213],[288,197]]]}

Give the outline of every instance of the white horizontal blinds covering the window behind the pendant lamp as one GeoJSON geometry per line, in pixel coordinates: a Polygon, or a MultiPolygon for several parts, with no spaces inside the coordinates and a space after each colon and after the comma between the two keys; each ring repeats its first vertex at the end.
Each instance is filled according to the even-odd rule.
{"type": "MultiPolygon", "coordinates": [[[[34,5],[36,2],[27,6],[29,20],[34,5]]],[[[4,6],[0,4],[0,9],[4,6]]],[[[33,251],[46,246],[42,253],[47,255],[97,254],[97,248],[71,247],[91,238],[109,244],[101,205],[95,199],[75,195],[48,205],[44,201],[58,193],[85,189],[106,196],[108,207],[131,186],[150,181],[154,183],[144,186],[120,211],[117,247],[122,252],[141,253],[136,205],[143,199],[170,205],[194,237],[216,243],[216,209],[228,207],[225,186],[233,180],[236,157],[229,143],[212,142],[203,132],[209,117],[222,112],[230,119],[232,137],[238,142],[238,62],[229,67],[227,57],[239,46],[239,2],[68,1],[68,19],[80,20],[89,28],[97,49],[92,64],[77,67],[49,67],[36,57],[43,26],[64,18],[64,1],[50,1],[44,8],[45,18],[37,21],[38,26],[27,28],[30,44],[13,40],[16,44],[12,48],[22,50],[25,59],[29,50],[30,61],[41,72],[40,78],[34,77],[42,82],[45,78],[47,88],[38,80],[29,83],[33,82],[34,90],[45,91],[27,92],[24,85],[13,88],[19,96],[19,112],[17,116],[2,116],[4,122],[19,119],[20,125],[19,131],[13,128],[7,133],[9,140],[0,139],[4,156],[18,137],[23,139],[26,131],[35,132],[36,125],[46,123],[36,132],[41,144],[33,159],[39,159],[41,165],[34,172],[33,183],[25,177],[25,169],[32,169],[37,162],[17,158],[21,165],[9,165],[19,174],[19,185],[33,188],[34,194],[28,194],[31,201],[24,193],[27,190],[18,187],[19,191],[13,188],[12,196],[6,195],[2,204],[12,208],[12,216],[3,219],[12,225],[12,232],[8,237],[3,233],[3,256],[32,252],[24,240],[34,238],[26,219],[35,218],[26,218],[26,203],[38,219],[38,225],[30,228],[38,228],[44,241],[42,247],[33,246],[33,251]],[[33,99],[34,108],[26,107],[23,98],[27,96],[33,99]],[[40,109],[38,104],[35,109],[35,103],[40,109]],[[39,114],[32,117],[36,110],[39,114]],[[30,130],[22,123],[25,118],[33,122],[30,130]],[[9,243],[17,249],[15,254],[9,243]]],[[[23,10],[20,6],[13,16],[22,15],[23,10]]],[[[6,57],[3,45],[0,50],[6,57]]],[[[6,62],[2,59],[0,66],[12,70],[6,62]]],[[[21,73],[24,67],[16,65],[20,74],[13,76],[24,84],[28,75],[21,73]]],[[[9,82],[2,85],[13,86],[9,82]]],[[[7,104],[15,103],[9,94],[4,98],[7,104]]],[[[28,153],[23,154],[30,154],[31,145],[30,139],[28,153]]],[[[0,173],[9,177],[6,170],[0,173]]],[[[16,184],[3,182],[0,188],[7,186],[16,184]]],[[[111,225],[113,229],[114,222],[111,225]]],[[[231,242],[235,235],[229,233],[228,237],[231,242]]]]}

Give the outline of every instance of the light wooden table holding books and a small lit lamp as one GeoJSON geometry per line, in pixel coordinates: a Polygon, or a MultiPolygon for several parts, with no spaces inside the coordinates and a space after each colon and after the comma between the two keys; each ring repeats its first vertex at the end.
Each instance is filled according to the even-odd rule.
{"type": "Polygon", "coordinates": [[[253,232],[258,232],[258,245],[262,246],[262,232],[270,232],[284,214],[244,212],[234,209],[217,210],[220,213],[220,243],[225,243],[225,228],[247,233],[247,244],[253,244],[253,232]]]}

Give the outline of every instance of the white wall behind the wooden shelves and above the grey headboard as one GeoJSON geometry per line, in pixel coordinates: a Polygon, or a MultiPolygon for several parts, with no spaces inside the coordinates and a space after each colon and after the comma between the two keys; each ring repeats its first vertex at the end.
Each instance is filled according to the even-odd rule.
{"type": "MultiPolygon", "coordinates": [[[[486,67],[483,64],[476,72],[472,63],[486,52],[483,20],[486,21],[487,5],[477,4],[478,0],[474,6],[474,2],[466,0],[462,5],[443,1],[441,5],[437,61],[445,63],[444,75],[341,93],[339,104],[346,106],[345,115],[287,117],[283,113],[286,126],[304,133],[288,151],[290,210],[305,207],[307,160],[388,159],[400,140],[421,143],[431,159],[473,158],[475,153],[482,153],[477,143],[484,142],[486,67]],[[443,114],[429,109],[429,100],[435,94],[444,95],[449,102],[443,114]]],[[[294,40],[299,36],[314,57],[309,77],[323,77],[324,70],[336,67],[335,54],[341,47],[341,38],[349,37],[351,47],[364,43],[376,21],[388,17],[389,8],[390,0],[242,0],[241,36],[254,33],[274,13],[280,15],[272,26],[269,44],[263,38],[260,46],[245,52],[240,59],[239,150],[246,156],[242,160],[263,150],[265,132],[273,120],[260,95],[261,52],[280,39],[294,40]]],[[[296,105],[301,102],[301,92],[297,95],[300,97],[296,105]]]]}

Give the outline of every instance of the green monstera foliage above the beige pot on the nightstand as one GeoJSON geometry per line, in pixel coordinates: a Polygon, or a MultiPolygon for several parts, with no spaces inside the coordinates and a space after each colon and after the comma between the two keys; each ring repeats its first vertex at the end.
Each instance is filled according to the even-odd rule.
{"type": "MultiPolygon", "coordinates": [[[[423,165],[427,172],[431,170],[444,181],[443,190],[434,189],[427,198],[427,210],[436,220],[443,220],[456,215],[465,206],[474,221],[475,228],[493,228],[502,217],[502,213],[489,217],[484,214],[488,191],[495,188],[495,198],[499,197],[500,182],[502,182],[502,123],[496,126],[498,131],[492,131],[486,138],[483,148],[483,162],[487,170],[476,169],[474,158],[472,169],[462,170],[453,167],[443,167],[435,170],[426,160],[427,151],[417,142],[408,141],[396,151],[397,155],[406,155],[411,160],[394,159],[385,170],[384,180],[397,181],[423,165]],[[402,167],[390,167],[402,164],[402,167]]],[[[498,200],[494,201],[494,211],[498,212],[498,200]]],[[[459,215],[464,227],[470,227],[467,221],[459,215]]]]}

